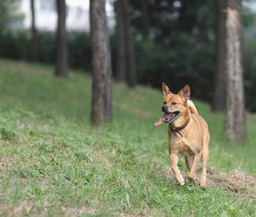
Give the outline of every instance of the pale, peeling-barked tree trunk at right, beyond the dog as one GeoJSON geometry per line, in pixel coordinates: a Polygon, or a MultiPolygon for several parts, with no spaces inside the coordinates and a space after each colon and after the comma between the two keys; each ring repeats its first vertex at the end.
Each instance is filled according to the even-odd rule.
{"type": "Polygon", "coordinates": [[[227,0],[226,133],[230,139],[244,139],[246,136],[241,9],[241,0],[227,0]]]}

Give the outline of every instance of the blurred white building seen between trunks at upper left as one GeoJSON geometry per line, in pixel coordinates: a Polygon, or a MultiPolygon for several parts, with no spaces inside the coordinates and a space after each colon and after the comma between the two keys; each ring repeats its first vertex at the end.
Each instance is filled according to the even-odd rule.
{"type": "MultiPolygon", "coordinates": [[[[56,0],[34,0],[36,27],[43,31],[55,31],[57,23],[56,0]]],[[[66,27],[68,31],[89,31],[89,3],[90,0],[66,0],[67,18],[66,27]]],[[[12,28],[25,28],[31,26],[31,6],[30,0],[21,0],[17,5],[17,13],[23,14],[23,18],[12,21],[12,28]]],[[[112,5],[107,1],[106,13],[108,18],[108,26],[112,28],[114,22],[114,11],[112,5]]]]}

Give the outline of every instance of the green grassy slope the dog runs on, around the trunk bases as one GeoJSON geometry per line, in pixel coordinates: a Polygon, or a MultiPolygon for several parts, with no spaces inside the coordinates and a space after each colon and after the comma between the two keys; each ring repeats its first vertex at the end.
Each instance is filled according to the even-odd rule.
{"type": "MultiPolygon", "coordinates": [[[[91,77],[52,72],[0,60],[1,216],[256,216],[243,192],[166,179],[167,127],[153,126],[160,91],[114,83],[114,121],[94,129],[91,77]]],[[[256,119],[248,118],[246,143],[231,142],[223,115],[194,102],[209,124],[209,167],[256,176],[256,119]]],[[[186,171],[183,157],[179,167],[186,171]]]]}

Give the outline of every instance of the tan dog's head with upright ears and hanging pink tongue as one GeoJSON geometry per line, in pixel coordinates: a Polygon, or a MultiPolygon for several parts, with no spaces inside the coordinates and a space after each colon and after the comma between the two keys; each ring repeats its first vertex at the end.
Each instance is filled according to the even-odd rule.
{"type": "Polygon", "coordinates": [[[162,83],[163,92],[163,116],[154,124],[159,126],[163,122],[171,123],[175,119],[183,116],[187,109],[187,100],[190,98],[190,86],[188,84],[183,87],[178,94],[170,92],[168,86],[162,83]]]}

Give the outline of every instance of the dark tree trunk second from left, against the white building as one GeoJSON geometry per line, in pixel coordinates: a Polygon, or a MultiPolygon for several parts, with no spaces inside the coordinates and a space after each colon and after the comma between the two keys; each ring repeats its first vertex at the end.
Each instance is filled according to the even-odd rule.
{"type": "Polygon", "coordinates": [[[68,44],[66,32],[66,4],[65,0],[56,0],[58,27],[57,27],[57,56],[55,75],[68,77],[68,44]]]}

